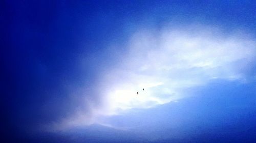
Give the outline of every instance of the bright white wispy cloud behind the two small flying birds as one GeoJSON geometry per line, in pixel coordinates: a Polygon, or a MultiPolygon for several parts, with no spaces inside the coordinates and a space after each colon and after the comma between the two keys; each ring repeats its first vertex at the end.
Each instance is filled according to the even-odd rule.
{"type": "MultiPolygon", "coordinates": [[[[225,34],[213,27],[138,30],[125,48],[120,48],[125,52],[116,57],[118,64],[100,75],[101,105],[92,105],[89,114],[75,111],[55,128],[88,125],[101,116],[177,102],[190,96],[186,89],[216,79],[246,82],[246,71],[254,66],[255,45],[247,34],[225,34]]],[[[110,49],[109,54],[115,52],[112,50],[118,49],[110,49]]]]}

